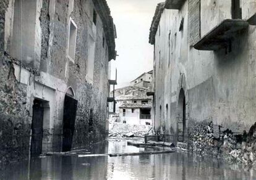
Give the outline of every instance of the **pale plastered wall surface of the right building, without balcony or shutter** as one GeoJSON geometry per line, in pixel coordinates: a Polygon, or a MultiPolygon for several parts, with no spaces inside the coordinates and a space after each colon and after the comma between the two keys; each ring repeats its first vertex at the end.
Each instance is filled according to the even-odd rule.
{"type": "MultiPolygon", "coordinates": [[[[190,25],[200,28],[202,38],[224,19],[231,18],[231,4],[199,1],[201,15],[198,26],[197,21],[190,23],[194,17],[187,12],[190,9],[188,6],[194,2],[197,1],[184,2],[179,10],[164,9],[155,41],[150,40],[155,45],[155,130],[162,134],[173,134],[174,142],[183,133],[185,142],[194,140],[190,142],[190,149],[200,152],[198,147],[207,145],[210,148],[208,152],[213,150],[211,147],[216,147],[220,153],[224,152],[221,148],[225,144],[223,138],[227,129],[241,135],[244,131],[248,133],[255,123],[256,27],[249,25],[247,30],[237,33],[230,52],[225,49],[198,51],[189,43],[194,33],[190,25]],[[185,105],[179,103],[181,90],[184,91],[185,105]],[[210,134],[224,134],[222,139],[211,142],[207,133],[208,123],[213,128],[210,134]],[[186,126],[181,128],[183,124],[186,126]]],[[[242,1],[241,8],[242,18],[249,18],[255,12],[255,2],[242,1]]],[[[226,136],[237,144],[236,138],[230,135],[232,133],[226,133],[226,136]]],[[[244,141],[254,144],[252,138],[244,141]]],[[[227,152],[234,150],[236,145],[233,147],[227,152]]]]}

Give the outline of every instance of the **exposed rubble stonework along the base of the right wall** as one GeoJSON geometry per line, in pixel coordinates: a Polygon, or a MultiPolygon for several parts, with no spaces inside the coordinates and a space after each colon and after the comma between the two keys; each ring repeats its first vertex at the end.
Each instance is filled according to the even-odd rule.
{"type": "Polygon", "coordinates": [[[249,133],[234,134],[231,130],[213,133],[213,122],[196,125],[189,133],[188,150],[199,155],[223,157],[228,162],[243,165],[256,164],[256,133],[252,126],[249,133]]]}

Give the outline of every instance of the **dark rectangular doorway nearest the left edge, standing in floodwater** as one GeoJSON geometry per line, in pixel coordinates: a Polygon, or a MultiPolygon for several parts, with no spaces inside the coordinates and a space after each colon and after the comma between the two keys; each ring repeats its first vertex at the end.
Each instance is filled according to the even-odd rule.
{"type": "Polygon", "coordinates": [[[43,141],[43,102],[35,99],[33,102],[32,138],[30,146],[31,157],[37,157],[42,152],[43,141]]]}

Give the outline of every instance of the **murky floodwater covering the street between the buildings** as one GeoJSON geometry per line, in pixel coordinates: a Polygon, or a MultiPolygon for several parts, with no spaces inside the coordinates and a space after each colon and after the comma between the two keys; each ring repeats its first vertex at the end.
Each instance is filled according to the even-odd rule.
{"type": "MultiPolygon", "coordinates": [[[[122,140],[95,145],[93,153],[142,152],[151,148],[127,146],[122,140]]],[[[45,157],[12,163],[1,179],[256,179],[256,172],[215,158],[182,152],[127,157],[45,157]]]]}

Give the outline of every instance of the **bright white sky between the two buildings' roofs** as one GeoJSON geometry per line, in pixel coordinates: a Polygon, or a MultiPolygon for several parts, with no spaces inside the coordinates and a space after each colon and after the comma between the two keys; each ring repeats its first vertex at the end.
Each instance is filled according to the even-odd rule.
{"type": "Polygon", "coordinates": [[[115,61],[111,61],[111,78],[117,68],[117,88],[153,69],[153,45],[148,43],[149,29],[156,5],[163,0],[107,0],[116,25],[115,61]]]}

